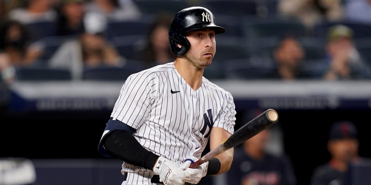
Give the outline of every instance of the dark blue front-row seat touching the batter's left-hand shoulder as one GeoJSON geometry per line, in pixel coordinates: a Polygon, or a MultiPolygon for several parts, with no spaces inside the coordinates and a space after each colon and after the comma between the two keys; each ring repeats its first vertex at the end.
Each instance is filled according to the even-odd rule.
{"type": "Polygon", "coordinates": [[[130,64],[126,64],[125,67],[85,68],[83,71],[82,79],[100,81],[125,81],[131,74],[137,73],[141,70],[141,68],[134,67],[130,64]]]}

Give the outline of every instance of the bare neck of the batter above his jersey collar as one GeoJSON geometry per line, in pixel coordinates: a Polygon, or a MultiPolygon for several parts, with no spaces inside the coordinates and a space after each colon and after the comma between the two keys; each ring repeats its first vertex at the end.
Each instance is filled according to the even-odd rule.
{"type": "Polygon", "coordinates": [[[181,77],[194,91],[201,87],[203,70],[197,69],[193,65],[189,65],[188,62],[184,61],[182,58],[177,58],[174,62],[174,66],[181,77]]]}

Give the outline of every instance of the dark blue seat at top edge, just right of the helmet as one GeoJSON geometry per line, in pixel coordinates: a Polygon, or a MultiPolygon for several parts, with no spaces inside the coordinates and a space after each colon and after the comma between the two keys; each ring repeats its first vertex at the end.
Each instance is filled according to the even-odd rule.
{"type": "Polygon", "coordinates": [[[217,14],[230,16],[256,15],[257,7],[253,0],[201,0],[199,5],[209,9],[214,16],[217,16],[217,14]]]}

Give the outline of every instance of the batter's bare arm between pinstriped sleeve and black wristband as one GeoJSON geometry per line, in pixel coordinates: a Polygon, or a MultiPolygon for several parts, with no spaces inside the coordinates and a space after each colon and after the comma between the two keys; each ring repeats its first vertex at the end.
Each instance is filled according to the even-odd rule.
{"type": "MultiPolygon", "coordinates": [[[[224,142],[229,138],[231,134],[226,131],[224,128],[220,127],[213,127],[210,133],[210,151],[216,148],[220,143],[224,142]]],[[[217,158],[220,162],[220,169],[216,175],[222,174],[228,171],[232,165],[233,160],[233,148],[222,152],[221,154],[217,155],[217,158]]],[[[210,163],[209,163],[210,165],[210,163]]]]}

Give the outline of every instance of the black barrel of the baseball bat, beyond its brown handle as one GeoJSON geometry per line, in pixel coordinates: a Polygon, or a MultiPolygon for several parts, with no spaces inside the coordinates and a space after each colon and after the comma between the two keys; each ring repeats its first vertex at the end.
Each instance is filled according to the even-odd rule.
{"type": "Polygon", "coordinates": [[[278,121],[278,117],[276,117],[276,119],[273,121],[270,120],[268,117],[269,111],[274,111],[275,114],[277,114],[277,112],[273,109],[268,109],[264,111],[262,114],[258,115],[253,120],[249,121],[247,124],[243,125],[240,129],[234,132],[224,142],[223,144],[224,147],[228,149],[236,147],[237,145],[241,144],[247,139],[252,138],[254,135],[259,134],[259,132],[275,124],[278,121]]]}

